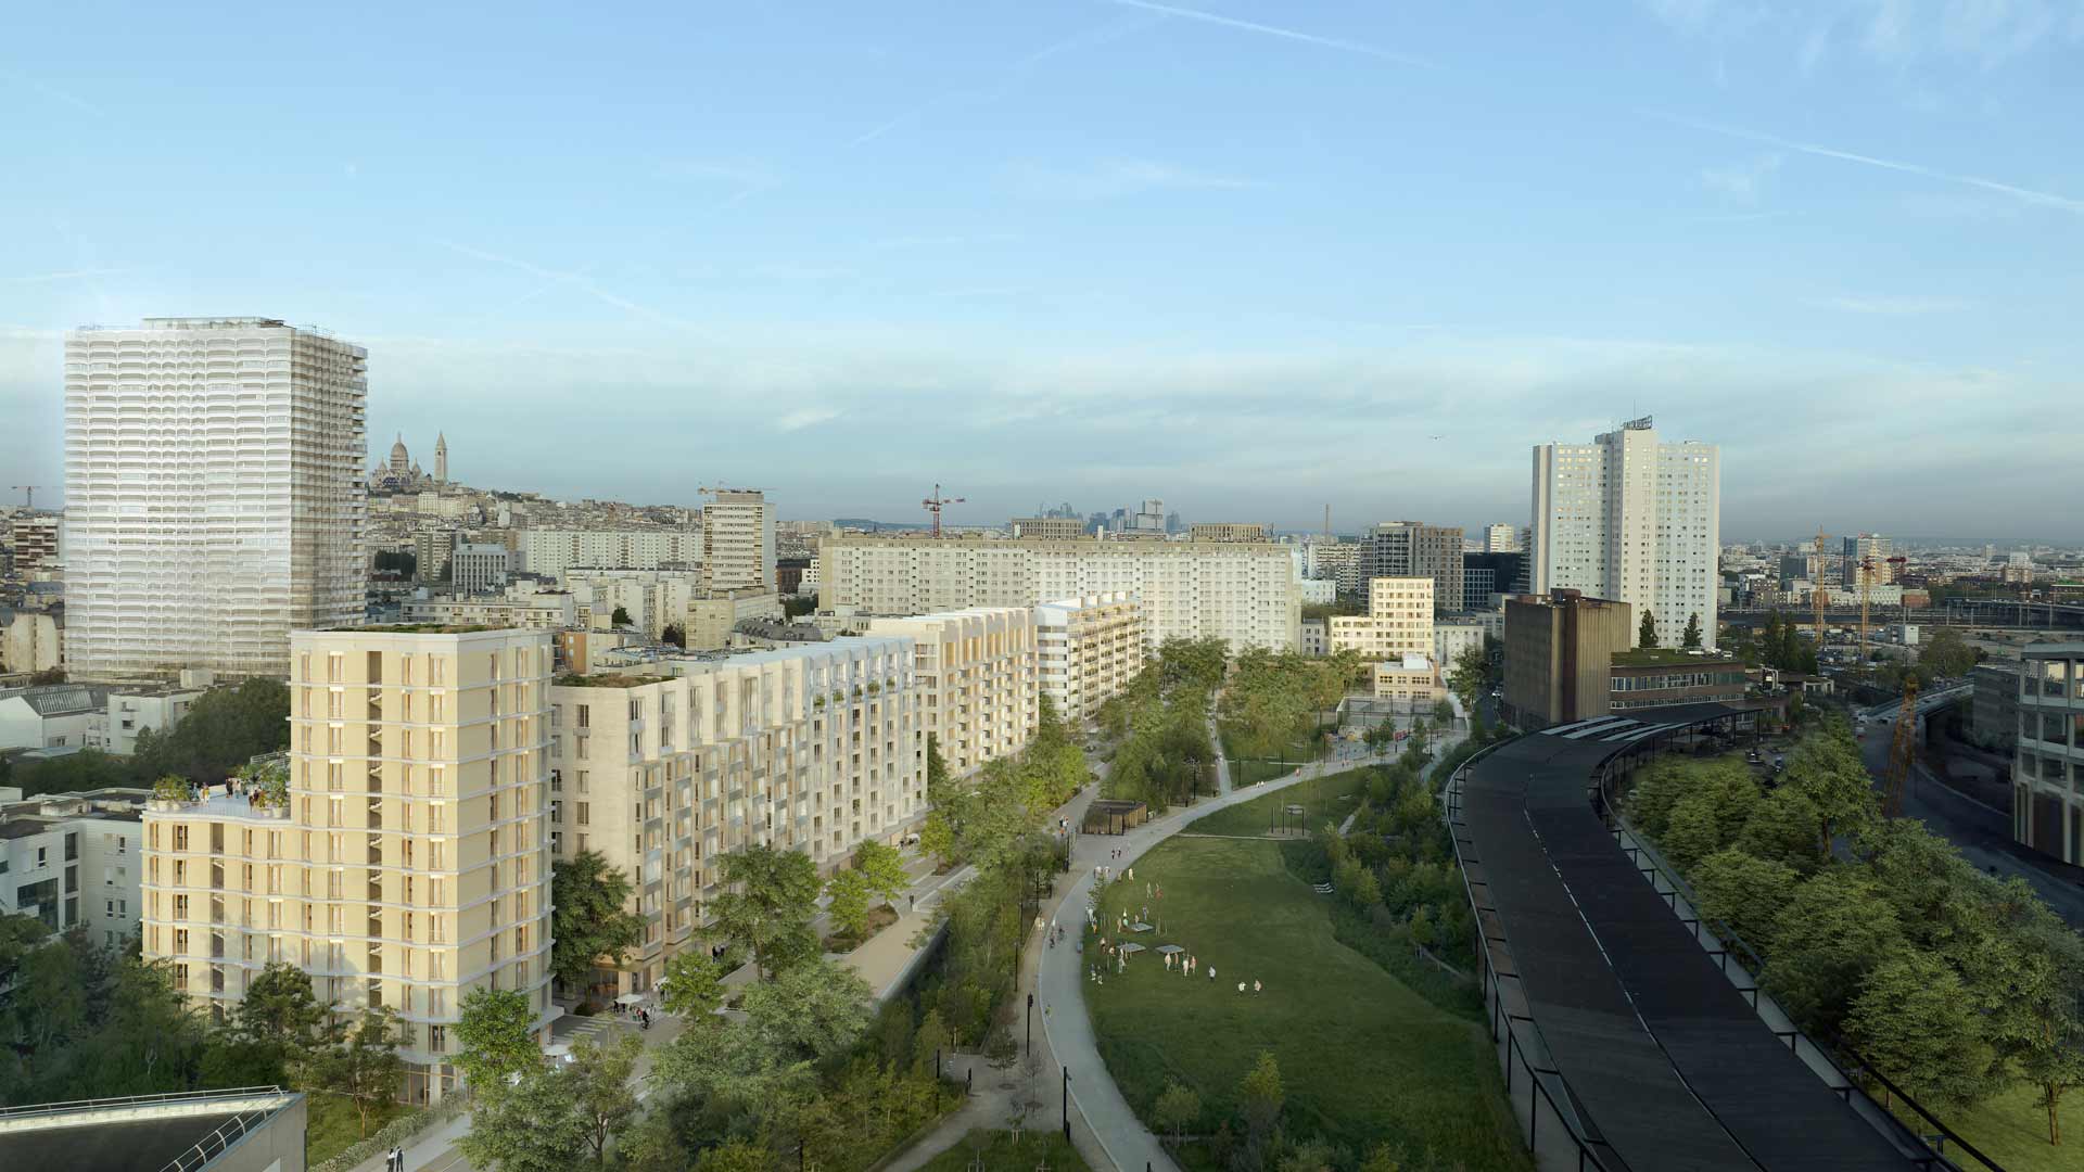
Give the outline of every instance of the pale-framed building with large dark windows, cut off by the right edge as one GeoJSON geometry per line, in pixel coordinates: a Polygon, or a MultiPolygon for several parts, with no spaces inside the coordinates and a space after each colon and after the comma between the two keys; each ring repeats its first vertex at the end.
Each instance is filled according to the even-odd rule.
{"type": "Polygon", "coordinates": [[[2084,642],[2019,651],[2011,836],[2084,865],[2084,642]]]}

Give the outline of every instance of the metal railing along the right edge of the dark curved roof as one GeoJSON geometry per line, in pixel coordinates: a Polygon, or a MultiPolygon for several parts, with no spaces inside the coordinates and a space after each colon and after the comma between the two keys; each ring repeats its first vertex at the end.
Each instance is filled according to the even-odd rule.
{"type": "MultiPolygon", "coordinates": [[[[1673,730],[1673,734],[1678,732],[1680,730],[1673,730]]],[[[1976,1149],[1976,1145],[1955,1134],[1955,1130],[1949,1128],[1944,1122],[1940,1122],[1938,1116],[1928,1112],[1917,1099],[1913,1099],[1901,1086],[1890,1082],[1880,1070],[1874,1068],[1874,1064],[1861,1057],[1859,1051],[1855,1051],[1844,1039],[1834,1039],[1832,1045],[1821,1045],[1807,1032],[1796,1028],[1786,1009],[1782,1009],[1780,1003],[1773,1001],[1773,997],[1759,986],[1759,974],[1765,972],[1765,959],[1757,953],[1757,949],[1753,949],[1742,936],[1738,936],[1736,930],[1730,928],[1730,924],[1701,913],[1698,911],[1701,901],[1694,895],[1692,884],[1688,884],[1684,876],[1671,870],[1671,865],[1663,859],[1663,855],[1659,855],[1657,849],[1648,845],[1648,838],[1644,838],[1634,826],[1628,824],[1628,820],[1621,815],[1619,803],[1615,801],[1615,784],[1619,778],[1626,776],[1628,772],[1626,765],[1630,763],[1632,757],[1636,757],[1638,751],[1646,751],[1653,747],[1653,742],[1661,740],[1665,740],[1665,736],[1655,736],[1648,742],[1630,747],[1628,753],[1621,753],[1603,763],[1598,770],[1598,780],[1590,792],[1596,807],[1594,813],[1598,813],[1601,822],[1607,826],[1607,832],[1613,834],[1615,845],[1628,853],[1632,863],[1636,863],[1636,872],[1640,872],[1642,878],[1648,880],[1651,890],[1663,897],[1665,905],[1671,907],[1671,913],[1678,915],[1680,924],[1692,930],[1694,941],[1707,951],[1709,957],[1715,959],[1715,968],[1721,970],[1723,978],[1728,978],[1730,984],[1734,984],[1736,991],[1742,993],[1746,1001],[1751,1001],[1751,1009],[1759,1014],[1759,1020],[1765,1022],[1765,1026],[1773,1032],[1773,1036],[1788,1045],[1788,1053],[1792,1053],[1805,1066],[1809,1066],[1817,1074],[1817,1078],[1821,1078],[1824,1084],[1830,1086],[1834,1095],[1838,1095],[1838,1099],[1842,1099],[1849,1107],[1859,1112],[1859,1116],[1867,1120],[1876,1130],[1888,1137],[1903,1151],[1903,1155],[1909,1157],[1915,1166],[1963,1172],[1963,1166],[1946,1155],[1946,1145],[1953,1143],[1953,1147],[1961,1155],[1971,1157],[1980,1168],[1988,1172],[2005,1172],[2005,1168],[1999,1162],[1990,1159],[1980,1149],[1976,1149]],[[1648,861],[1648,865],[1644,865],[1644,861],[1648,861]],[[1734,974],[1730,972],[1732,961],[1736,963],[1738,970],[1734,974]],[[1748,984],[1742,984],[1738,976],[1748,980],[1748,984]],[[1905,1107],[1915,1112],[1919,1120],[1924,1120],[1934,1128],[1932,1134],[1917,1132],[1915,1128],[1905,1124],[1903,1118],[1899,1118],[1892,1109],[1874,1101],[1874,1095],[1869,1095],[1857,1078],[1846,1074],[1844,1061],[1840,1059],[1855,1064],[1861,1074],[1874,1078],[1892,1097],[1901,1099],[1905,1107]]]]}

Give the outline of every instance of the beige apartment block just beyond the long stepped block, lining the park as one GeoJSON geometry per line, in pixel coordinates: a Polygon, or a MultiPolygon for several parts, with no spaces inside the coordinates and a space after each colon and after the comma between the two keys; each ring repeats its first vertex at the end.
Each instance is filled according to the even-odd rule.
{"type": "Polygon", "coordinates": [[[1019,753],[1034,736],[1040,680],[1032,607],[875,619],[869,634],[913,640],[921,761],[929,734],[954,776],[1019,753]]]}

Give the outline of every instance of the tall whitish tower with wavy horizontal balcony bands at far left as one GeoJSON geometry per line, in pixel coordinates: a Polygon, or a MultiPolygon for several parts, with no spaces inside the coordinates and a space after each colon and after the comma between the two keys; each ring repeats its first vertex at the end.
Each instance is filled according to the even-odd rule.
{"type": "Polygon", "coordinates": [[[367,352],[267,317],[65,336],[67,663],[281,676],[363,617],[367,352]]]}

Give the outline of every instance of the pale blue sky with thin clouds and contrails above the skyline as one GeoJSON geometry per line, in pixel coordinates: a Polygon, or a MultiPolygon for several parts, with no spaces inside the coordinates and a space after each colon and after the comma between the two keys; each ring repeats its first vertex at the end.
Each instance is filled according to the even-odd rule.
{"type": "Polygon", "coordinates": [[[1475,526],[1655,413],[1728,536],[2080,538],[2080,115],[2044,0],[40,6],[0,469],[67,327],[260,313],[567,496],[1475,526]]]}

